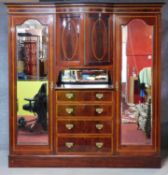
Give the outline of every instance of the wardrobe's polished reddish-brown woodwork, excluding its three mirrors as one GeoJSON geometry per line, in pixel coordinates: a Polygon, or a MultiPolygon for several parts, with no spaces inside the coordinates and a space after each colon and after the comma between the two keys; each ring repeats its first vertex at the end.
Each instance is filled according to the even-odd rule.
{"type": "Polygon", "coordinates": [[[9,166],[160,167],[160,14],[162,4],[9,3],[7,6],[10,70],[9,166]],[[101,20],[99,19],[100,13],[101,20]],[[153,142],[149,146],[121,145],[120,137],[121,25],[136,18],[154,26],[153,142]],[[17,25],[28,19],[36,19],[49,29],[49,145],[47,146],[17,145],[16,142],[15,30],[17,25]],[[67,19],[67,23],[63,28],[64,19],[67,19]],[[78,33],[79,28],[80,33],[78,33]],[[67,45],[67,41],[71,44],[67,45]],[[54,85],[58,81],[60,70],[75,67],[109,70],[113,88],[104,90],[55,89],[54,85]],[[72,107],[74,111],[66,109],[72,107]],[[97,112],[96,108],[99,108],[97,112]]]}

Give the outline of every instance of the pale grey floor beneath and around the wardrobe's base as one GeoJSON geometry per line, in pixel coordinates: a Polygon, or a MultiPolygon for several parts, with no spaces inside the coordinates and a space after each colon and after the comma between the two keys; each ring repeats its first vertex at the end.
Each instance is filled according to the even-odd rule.
{"type": "Polygon", "coordinates": [[[0,151],[0,175],[168,175],[168,158],[162,168],[8,168],[8,151],[0,151]]]}

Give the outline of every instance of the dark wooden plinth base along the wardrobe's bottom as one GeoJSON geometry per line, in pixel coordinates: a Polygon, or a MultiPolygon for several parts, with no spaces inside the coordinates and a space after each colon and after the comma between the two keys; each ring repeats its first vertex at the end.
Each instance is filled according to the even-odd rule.
{"type": "MultiPolygon", "coordinates": [[[[103,153],[105,154],[105,153],[103,153]]],[[[161,157],[152,156],[10,156],[10,167],[127,167],[160,168],[161,157]]]]}

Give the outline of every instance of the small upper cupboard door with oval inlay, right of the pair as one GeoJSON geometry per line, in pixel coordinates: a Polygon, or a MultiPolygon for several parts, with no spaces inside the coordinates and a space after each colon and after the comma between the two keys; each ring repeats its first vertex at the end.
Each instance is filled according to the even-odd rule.
{"type": "Polygon", "coordinates": [[[112,17],[104,13],[87,14],[85,28],[85,64],[110,64],[112,61],[112,17]]]}

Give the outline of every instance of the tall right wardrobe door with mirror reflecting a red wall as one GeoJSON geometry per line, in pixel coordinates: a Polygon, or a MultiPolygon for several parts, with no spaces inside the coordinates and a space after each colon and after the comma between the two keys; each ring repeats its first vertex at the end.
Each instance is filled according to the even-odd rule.
{"type": "Polygon", "coordinates": [[[152,15],[116,17],[116,45],[120,51],[116,59],[116,80],[120,82],[117,140],[121,152],[159,151],[157,24],[158,17],[152,15]]]}

